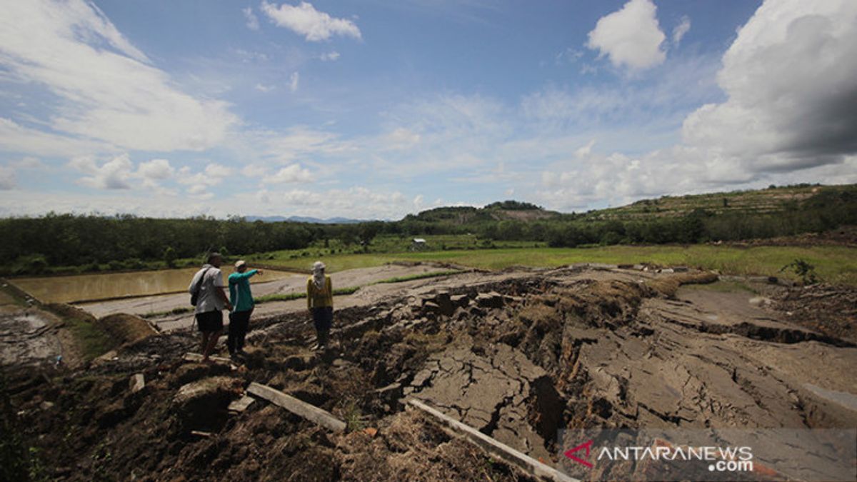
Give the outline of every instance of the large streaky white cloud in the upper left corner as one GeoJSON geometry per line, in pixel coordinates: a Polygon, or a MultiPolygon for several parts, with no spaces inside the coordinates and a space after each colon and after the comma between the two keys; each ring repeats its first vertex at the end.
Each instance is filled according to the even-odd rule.
{"type": "Polygon", "coordinates": [[[52,130],[121,148],[198,150],[237,122],[224,102],[178,90],[92,3],[10,2],[3,19],[0,67],[56,96],[52,130]]]}

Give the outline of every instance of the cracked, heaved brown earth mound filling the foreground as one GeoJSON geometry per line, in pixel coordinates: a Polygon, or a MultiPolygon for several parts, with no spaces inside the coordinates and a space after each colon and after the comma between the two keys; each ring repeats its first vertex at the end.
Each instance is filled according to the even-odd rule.
{"type": "Polygon", "coordinates": [[[548,464],[558,429],[857,424],[854,344],[749,297],[708,303],[678,287],[710,276],[469,276],[339,310],[324,354],[306,348],[304,316],[286,313],[256,325],[235,368],[183,362],[196,339],[177,332],[64,377],[13,373],[6,417],[46,475],[87,480],[529,479],[406,409],[408,397],[548,464]],[[146,387],[132,392],[137,372],[146,387]],[[348,430],[264,401],[231,413],[251,382],[348,430]]]}

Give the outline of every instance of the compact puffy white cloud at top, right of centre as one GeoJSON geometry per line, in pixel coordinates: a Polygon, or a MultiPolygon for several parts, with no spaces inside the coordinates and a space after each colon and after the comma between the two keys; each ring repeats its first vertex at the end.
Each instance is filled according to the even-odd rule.
{"type": "Polygon", "coordinates": [[[615,67],[647,69],[663,63],[666,36],[657,23],[651,0],[631,0],[620,10],[598,19],[586,46],[608,56],[615,67]]]}

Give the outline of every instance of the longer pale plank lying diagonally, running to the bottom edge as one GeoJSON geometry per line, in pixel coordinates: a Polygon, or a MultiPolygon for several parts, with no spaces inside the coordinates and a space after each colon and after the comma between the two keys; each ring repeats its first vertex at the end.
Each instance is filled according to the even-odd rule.
{"type": "Polygon", "coordinates": [[[565,473],[561,473],[556,470],[554,467],[549,467],[548,465],[543,464],[540,461],[536,461],[529,455],[525,455],[518,450],[512,449],[505,443],[500,443],[494,440],[494,438],[488,437],[483,434],[481,431],[477,431],[473,427],[469,425],[464,425],[456,419],[452,419],[444,413],[440,413],[432,407],[428,407],[422,401],[418,401],[415,399],[408,400],[408,405],[411,407],[415,407],[424,413],[428,413],[435,419],[440,420],[444,425],[448,426],[458,434],[467,437],[470,442],[476,443],[482,447],[482,449],[487,450],[488,452],[499,456],[504,461],[507,461],[517,467],[520,467],[526,473],[530,473],[535,477],[547,480],[554,480],[556,482],[580,482],[578,479],[572,479],[567,476],[565,473]]]}

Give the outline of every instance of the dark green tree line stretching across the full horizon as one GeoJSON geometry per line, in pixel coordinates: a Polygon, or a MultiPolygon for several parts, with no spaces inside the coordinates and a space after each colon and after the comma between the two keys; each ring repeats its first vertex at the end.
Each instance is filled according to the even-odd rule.
{"type": "MultiPolygon", "coordinates": [[[[503,208],[533,208],[506,202],[503,208]]],[[[476,210],[476,208],[471,208],[476,210]]],[[[828,190],[805,200],[787,202],[773,213],[712,214],[695,209],[683,216],[643,220],[592,220],[579,214],[561,214],[544,220],[494,220],[461,208],[438,208],[427,215],[399,221],[321,225],[291,221],[248,221],[240,217],[153,219],[133,215],[101,216],[46,214],[0,220],[5,239],[0,256],[7,263],[2,274],[39,274],[51,267],[87,267],[98,270],[142,268],[150,262],[174,266],[176,260],[205,253],[250,254],[274,250],[301,250],[314,242],[336,239],[339,245],[369,249],[380,234],[420,236],[476,234],[483,240],[540,241],[554,247],[588,244],[693,244],[774,238],[803,232],[823,232],[857,224],[857,190],[828,190]],[[462,215],[469,215],[467,219],[462,215]],[[463,220],[463,222],[459,222],[463,220]],[[452,220],[453,222],[448,222],[452,220]]]]}

